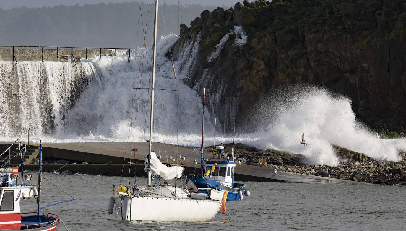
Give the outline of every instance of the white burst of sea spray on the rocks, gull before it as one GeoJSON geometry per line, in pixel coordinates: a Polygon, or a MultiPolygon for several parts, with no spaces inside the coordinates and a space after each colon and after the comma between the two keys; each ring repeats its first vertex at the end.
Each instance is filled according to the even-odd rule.
{"type": "Polygon", "coordinates": [[[261,127],[248,137],[261,148],[300,153],[308,163],[336,165],[331,144],[382,160],[397,161],[398,150],[406,150],[405,139],[380,139],[356,121],[348,97],[323,87],[295,84],[270,93],[256,107],[248,125],[261,127]],[[308,146],[299,144],[302,134],[308,146]],[[258,138],[260,137],[260,138],[258,138]]]}

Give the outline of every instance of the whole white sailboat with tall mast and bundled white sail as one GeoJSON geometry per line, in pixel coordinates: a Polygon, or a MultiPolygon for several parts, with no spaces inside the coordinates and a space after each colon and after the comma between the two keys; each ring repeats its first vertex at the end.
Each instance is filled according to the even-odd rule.
{"type": "Polygon", "coordinates": [[[184,169],[181,166],[168,167],[162,164],[152,151],[157,17],[158,0],[155,0],[149,154],[145,159],[148,183],[146,187],[133,184],[131,188],[121,185],[114,188],[108,213],[112,214],[115,207],[116,217],[121,215],[123,220],[209,221],[218,213],[222,203],[225,203],[225,197],[227,197],[225,191],[210,188],[208,194],[192,193],[186,187],[166,184],[166,180],[180,178],[184,169]],[[152,177],[161,177],[165,183],[152,184],[152,177]]]}

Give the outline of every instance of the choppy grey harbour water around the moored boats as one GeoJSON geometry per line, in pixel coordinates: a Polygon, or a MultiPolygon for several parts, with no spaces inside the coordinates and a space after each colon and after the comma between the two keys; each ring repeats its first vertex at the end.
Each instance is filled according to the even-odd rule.
{"type": "MultiPolygon", "coordinates": [[[[76,198],[45,209],[45,213],[60,216],[70,231],[399,230],[406,219],[403,186],[244,182],[251,196],[226,203],[231,222],[221,213],[207,223],[114,220],[114,214],[107,213],[107,205],[112,196],[112,184],[118,185],[120,177],[49,173],[43,176],[76,198]]],[[[41,205],[69,199],[45,179],[41,205]]],[[[128,181],[127,178],[122,180],[128,181]]],[[[137,178],[137,183],[145,184],[145,178],[137,178]]],[[[31,212],[36,206],[35,199],[22,201],[22,212],[31,212]]],[[[58,230],[65,228],[60,225],[58,230]]]]}

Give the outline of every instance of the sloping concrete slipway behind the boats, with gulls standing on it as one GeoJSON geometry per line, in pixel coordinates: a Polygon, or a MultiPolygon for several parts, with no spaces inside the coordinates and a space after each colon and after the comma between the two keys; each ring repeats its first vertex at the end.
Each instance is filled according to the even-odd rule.
{"type": "MultiPolygon", "coordinates": [[[[132,144],[126,142],[42,143],[43,157],[77,161],[77,164],[44,164],[43,170],[52,172],[60,169],[60,171],[69,170],[71,172],[119,176],[122,171],[127,171],[128,174],[128,163],[132,153],[131,162],[137,163],[132,164],[136,169],[137,176],[145,175],[144,160],[147,156],[148,145],[148,142],[135,142],[132,144]],[[82,161],[93,164],[81,164],[82,161]]],[[[30,146],[39,146],[39,144],[30,143],[30,146]]],[[[162,155],[162,163],[167,163],[168,157],[175,157],[175,150],[177,150],[178,155],[186,157],[186,160],[181,163],[179,163],[179,158],[175,157],[175,159],[178,159],[177,164],[185,167],[185,175],[193,174],[193,172],[199,174],[200,172],[200,164],[196,167],[192,164],[194,159],[199,161],[199,148],[154,143],[153,150],[157,153],[157,156],[162,155]]],[[[204,159],[212,157],[211,151],[205,149],[204,159]]],[[[172,164],[171,161],[168,162],[172,164]]],[[[176,161],[173,164],[176,164],[176,161]]],[[[24,165],[25,170],[30,170],[31,168],[36,170],[37,167],[34,164],[24,165]]],[[[273,168],[269,167],[243,163],[241,166],[237,165],[235,167],[234,177],[236,181],[348,182],[348,180],[335,178],[294,174],[284,172],[283,169],[278,169],[278,172],[274,175],[272,174],[273,170],[273,168]]],[[[134,168],[130,171],[134,171],[134,168]]]]}

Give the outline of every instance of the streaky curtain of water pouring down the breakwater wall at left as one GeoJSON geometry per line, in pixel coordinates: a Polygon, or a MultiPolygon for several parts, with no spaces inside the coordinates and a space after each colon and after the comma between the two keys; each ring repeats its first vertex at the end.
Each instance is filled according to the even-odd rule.
{"type": "Polygon", "coordinates": [[[72,68],[62,62],[0,62],[0,137],[60,134],[68,109],[95,76],[91,64],[72,68]]]}

